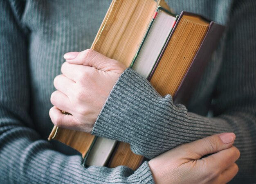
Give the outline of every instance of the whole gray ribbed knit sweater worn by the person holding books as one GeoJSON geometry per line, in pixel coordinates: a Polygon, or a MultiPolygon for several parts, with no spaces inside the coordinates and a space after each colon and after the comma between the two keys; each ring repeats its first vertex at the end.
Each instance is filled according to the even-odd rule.
{"type": "MultiPolygon", "coordinates": [[[[82,166],[75,150],[47,141],[53,79],[63,54],[90,48],[111,0],[0,1],[0,183],[153,183],[137,171],[82,166]]],[[[153,158],[225,131],[241,152],[236,183],[256,182],[256,1],[167,0],[175,13],[227,29],[188,107],[173,105],[131,69],[113,88],[92,134],[130,143],[153,158]],[[213,117],[207,117],[209,110],[213,117]]]]}

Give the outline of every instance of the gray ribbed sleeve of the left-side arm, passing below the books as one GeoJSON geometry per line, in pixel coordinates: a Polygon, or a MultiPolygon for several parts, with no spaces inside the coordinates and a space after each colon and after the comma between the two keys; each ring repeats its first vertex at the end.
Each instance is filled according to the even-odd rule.
{"type": "Polygon", "coordinates": [[[41,139],[29,117],[21,10],[22,4],[0,1],[0,183],[152,183],[147,162],[135,172],[124,166],[85,168],[81,156],[65,156],[41,139]]]}

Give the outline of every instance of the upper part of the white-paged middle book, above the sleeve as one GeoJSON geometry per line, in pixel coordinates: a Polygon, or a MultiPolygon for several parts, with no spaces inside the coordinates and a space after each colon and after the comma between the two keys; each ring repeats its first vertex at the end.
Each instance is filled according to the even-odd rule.
{"type": "Polygon", "coordinates": [[[177,17],[162,7],[159,7],[153,16],[148,31],[137,51],[131,68],[145,79],[148,78],[152,68],[155,66],[164,44],[166,43],[177,17]]]}

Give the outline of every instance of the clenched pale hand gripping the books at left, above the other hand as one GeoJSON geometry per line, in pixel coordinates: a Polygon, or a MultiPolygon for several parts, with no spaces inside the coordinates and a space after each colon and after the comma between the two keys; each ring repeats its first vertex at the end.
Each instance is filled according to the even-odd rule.
{"type": "Polygon", "coordinates": [[[63,74],[54,79],[57,91],[52,93],[54,107],[49,115],[58,127],[91,132],[108,95],[126,67],[90,49],[67,53],[64,58],[67,62],[61,67],[63,74]],[[61,110],[70,114],[63,114],[61,110]]]}

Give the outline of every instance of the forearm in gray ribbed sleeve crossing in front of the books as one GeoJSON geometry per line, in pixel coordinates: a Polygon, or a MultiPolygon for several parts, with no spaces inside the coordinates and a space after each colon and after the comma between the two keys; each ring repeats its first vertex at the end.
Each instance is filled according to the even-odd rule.
{"type": "Polygon", "coordinates": [[[133,70],[126,70],[106,101],[92,134],[131,145],[132,151],[147,158],[221,132],[235,132],[240,149],[240,169],[254,164],[255,114],[230,111],[207,118],[187,112],[183,105],[173,105],[171,96],[161,97],[133,70]],[[246,153],[244,150],[247,150],[246,153]]]}

